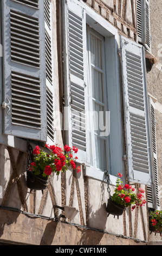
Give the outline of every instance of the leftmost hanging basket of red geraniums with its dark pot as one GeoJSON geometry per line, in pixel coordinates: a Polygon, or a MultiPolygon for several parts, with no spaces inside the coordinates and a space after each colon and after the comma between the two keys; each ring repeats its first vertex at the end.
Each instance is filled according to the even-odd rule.
{"type": "Polygon", "coordinates": [[[27,164],[27,187],[30,190],[44,190],[48,186],[48,177],[53,173],[59,175],[60,172],[65,172],[68,167],[77,169],[80,172],[81,168],[76,167],[75,160],[78,149],[70,148],[68,145],[61,149],[57,145],[45,145],[40,149],[38,146],[31,148],[30,161],[27,164]],[[47,152],[48,151],[48,152],[47,152]]]}

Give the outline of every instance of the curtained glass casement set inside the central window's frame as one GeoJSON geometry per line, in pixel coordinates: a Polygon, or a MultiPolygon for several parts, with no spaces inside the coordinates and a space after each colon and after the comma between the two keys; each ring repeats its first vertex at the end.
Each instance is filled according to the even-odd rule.
{"type": "MultiPolygon", "coordinates": [[[[108,135],[105,131],[106,111],[108,111],[106,70],[105,70],[105,38],[88,28],[88,110],[92,144],[91,165],[99,169],[107,169],[108,135]],[[104,129],[104,131],[103,131],[104,129]]],[[[108,122],[107,122],[108,123],[108,122]]],[[[108,125],[108,124],[107,124],[108,125]]]]}

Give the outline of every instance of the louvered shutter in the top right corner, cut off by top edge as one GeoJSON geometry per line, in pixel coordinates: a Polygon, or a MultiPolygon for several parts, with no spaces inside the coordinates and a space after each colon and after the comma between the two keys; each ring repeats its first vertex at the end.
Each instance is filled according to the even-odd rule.
{"type": "Polygon", "coordinates": [[[150,0],[137,0],[138,41],[151,51],[150,0]]]}

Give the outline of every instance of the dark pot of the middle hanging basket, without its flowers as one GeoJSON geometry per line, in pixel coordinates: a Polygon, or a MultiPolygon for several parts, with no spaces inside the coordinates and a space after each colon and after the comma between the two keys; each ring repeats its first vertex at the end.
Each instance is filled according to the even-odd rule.
{"type": "Polygon", "coordinates": [[[108,212],[108,216],[110,214],[115,216],[120,216],[123,214],[125,210],[125,205],[117,204],[116,202],[113,202],[111,197],[108,199],[106,211],[108,212]]]}

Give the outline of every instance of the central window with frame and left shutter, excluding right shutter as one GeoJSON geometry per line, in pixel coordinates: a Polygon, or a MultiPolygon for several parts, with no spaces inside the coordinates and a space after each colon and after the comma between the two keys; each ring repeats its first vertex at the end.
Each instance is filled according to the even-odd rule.
{"type": "Polygon", "coordinates": [[[103,180],[104,169],[124,173],[118,33],[78,1],[63,9],[66,143],[79,148],[86,175],[103,180]]]}

